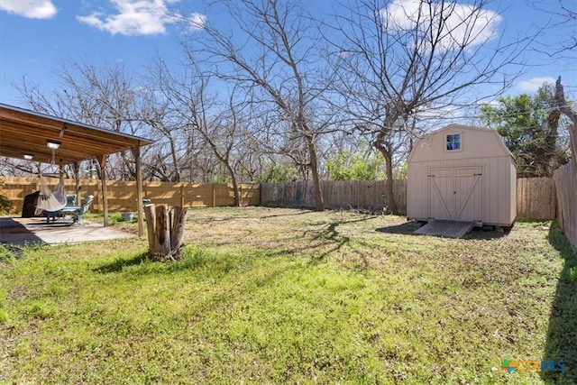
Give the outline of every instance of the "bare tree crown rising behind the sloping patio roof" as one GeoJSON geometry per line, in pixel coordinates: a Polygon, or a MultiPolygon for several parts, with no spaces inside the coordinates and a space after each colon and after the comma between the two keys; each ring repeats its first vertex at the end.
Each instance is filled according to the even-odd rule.
{"type": "MultiPolygon", "coordinates": [[[[144,111],[152,111],[151,106],[146,106],[143,88],[122,65],[96,67],[86,60],[69,61],[56,69],[54,75],[61,90],[52,95],[44,94],[41,87],[26,78],[14,87],[34,111],[117,132],[153,136],[151,126],[146,124],[151,118],[142,116],[144,111]]],[[[143,160],[153,150],[153,146],[149,147],[142,150],[143,160]]],[[[106,162],[106,173],[111,179],[134,179],[132,153],[111,155],[106,162]]]]}

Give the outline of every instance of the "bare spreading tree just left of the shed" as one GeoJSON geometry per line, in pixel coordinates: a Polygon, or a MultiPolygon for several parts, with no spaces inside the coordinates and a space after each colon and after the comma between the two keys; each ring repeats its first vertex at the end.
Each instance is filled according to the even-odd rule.
{"type": "MultiPolygon", "coordinates": [[[[414,135],[419,115],[454,105],[474,105],[472,87],[491,85],[492,94],[508,87],[522,42],[496,36],[499,14],[487,0],[357,0],[347,16],[338,16],[334,33],[340,75],[337,90],[345,108],[385,158],[389,209],[393,196],[393,160],[399,143],[414,135]],[[499,78],[498,78],[499,77],[499,78]],[[466,102],[459,96],[467,92],[466,102]]],[[[527,41],[525,41],[527,43],[527,41]]]]}

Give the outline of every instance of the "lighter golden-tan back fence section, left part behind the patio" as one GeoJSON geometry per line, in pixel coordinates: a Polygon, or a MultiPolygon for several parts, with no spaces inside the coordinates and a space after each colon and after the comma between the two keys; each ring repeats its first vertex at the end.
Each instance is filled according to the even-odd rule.
{"type": "MultiPolygon", "coordinates": [[[[58,179],[48,179],[51,188],[58,184],[58,179]]],[[[38,178],[0,177],[0,188],[12,202],[14,213],[22,211],[23,199],[37,191],[40,186],[38,178]]],[[[68,194],[74,194],[76,181],[66,179],[68,194]]],[[[108,210],[111,212],[136,211],[136,182],[107,181],[108,210]]],[[[260,187],[258,183],[239,185],[243,206],[259,205],[260,187]]],[[[80,181],[80,199],[87,195],[95,197],[91,211],[103,211],[102,185],[99,180],[80,181]]],[[[169,183],[143,182],[142,195],[152,203],[169,206],[212,207],[234,206],[233,185],[226,183],[169,183]]]]}

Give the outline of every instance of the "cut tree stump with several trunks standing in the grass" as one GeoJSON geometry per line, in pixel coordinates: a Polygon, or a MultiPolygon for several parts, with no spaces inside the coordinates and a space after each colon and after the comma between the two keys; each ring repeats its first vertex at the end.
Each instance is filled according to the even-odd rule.
{"type": "Polygon", "coordinates": [[[151,258],[155,261],[177,261],[184,247],[187,207],[146,205],[146,228],[151,258]]]}

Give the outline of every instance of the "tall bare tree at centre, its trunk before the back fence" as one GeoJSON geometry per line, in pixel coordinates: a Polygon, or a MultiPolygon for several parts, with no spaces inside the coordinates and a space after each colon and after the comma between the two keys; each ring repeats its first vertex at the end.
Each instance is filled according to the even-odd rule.
{"type": "Polygon", "coordinates": [[[234,32],[206,24],[203,38],[195,35],[188,50],[206,54],[219,78],[245,87],[252,103],[266,109],[274,124],[269,143],[279,143],[279,150],[310,170],[316,210],[324,210],[316,143],[330,129],[330,115],[322,116],[320,106],[328,68],[313,18],[295,1],[239,0],[215,6],[229,14],[234,32]]]}

